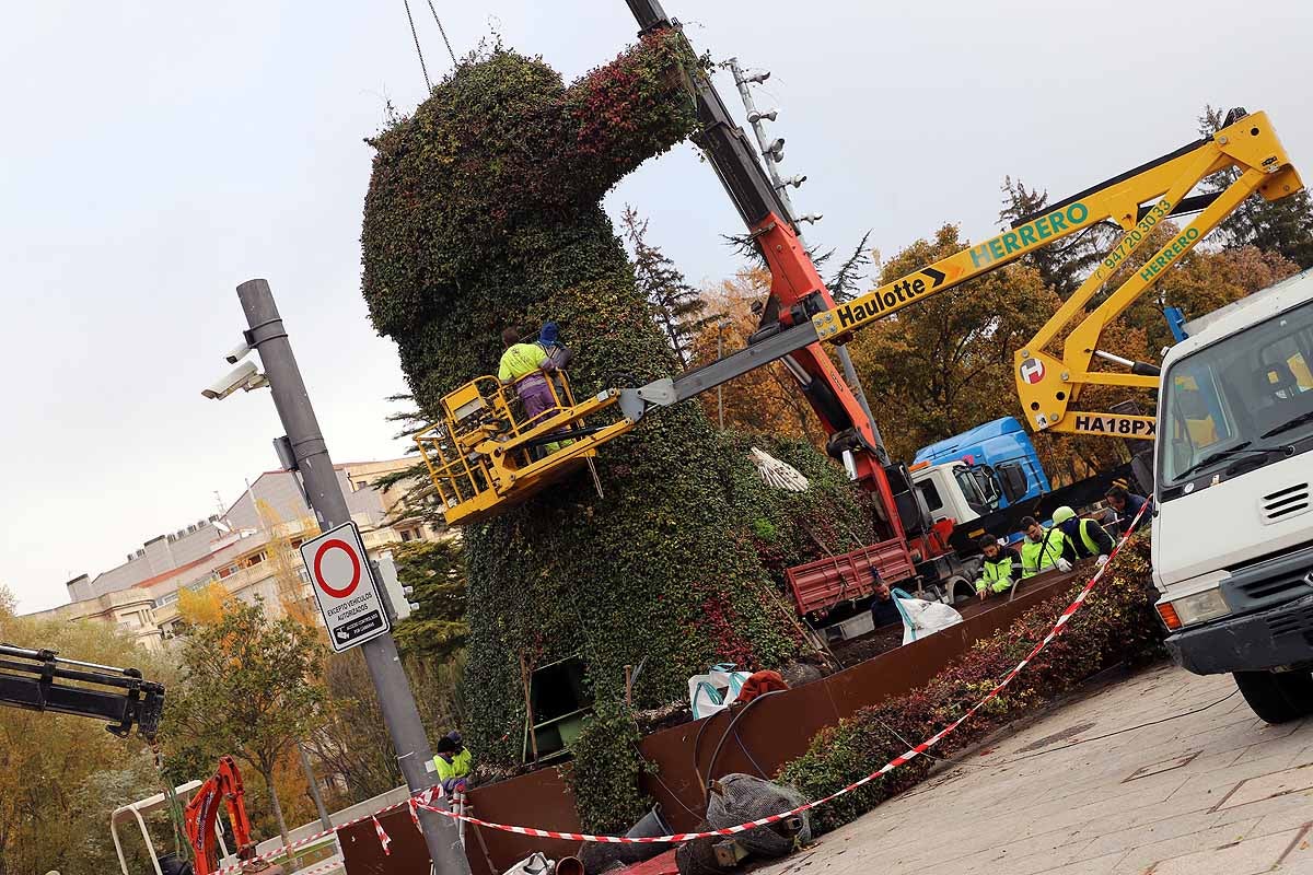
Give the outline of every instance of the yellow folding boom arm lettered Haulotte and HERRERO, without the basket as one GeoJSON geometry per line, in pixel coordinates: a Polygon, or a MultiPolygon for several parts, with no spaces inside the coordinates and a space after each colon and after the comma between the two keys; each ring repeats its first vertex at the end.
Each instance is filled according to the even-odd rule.
{"type": "Polygon", "coordinates": [[[1116,222],[1124,234],[1031,342],[1016,352],[1012,378],[1025,418],[1036,432],[1153,438],[1152,416],[1069,411],[1087,386],[1158,388],[1155,366],[1130,362],[1099,349],[1103,332],[1255,190],[1266,199],[1276,201],[1301,188],[1300,176],[1267,114],[1246,115],[1243,110],[1233,110],[1228,125],[1215,135],[1056,203],[1043,215],[1022,219],[1011,231],[817,314],[813,323],[818,337],[842,342],[848,333],[928,295],[948,291],[1100,222],[1116,222]],[[1238,176],[1226,189],[1188,197],[1201,180],[1230,168],[1238,176]],[[1200,205],[1205,206],[1190,224],[1098,307],[1086,311],[1112,274],[1144,245],[1155,224],[1170,215],[1197,211],[1200,205]],[[1081,316],[1083,319],[1066,336],[1061,354],[1046,353],[1045,349],[1081,316]],[[1095,357],[1129,367],[1130,373],[1091,370],[1095,357]]]}

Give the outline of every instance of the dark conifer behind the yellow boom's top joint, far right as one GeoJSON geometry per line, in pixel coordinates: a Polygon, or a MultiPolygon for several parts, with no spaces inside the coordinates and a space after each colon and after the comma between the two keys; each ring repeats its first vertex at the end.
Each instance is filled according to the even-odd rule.
{"type": "MultiPolygon", "coordinates": [[[[1211,136],[1225,125],[1226,114],[1205,105],[1199,115],[1199,132],[1211,136]]],[[[1232,168],[1204,180],[1204,189],[1221,192],[1236,181],[1232,168]]],[[[1308,189],[1288,194],[1280,201],[1250,195],[1220,226],[1228,248],[1254,245],[1264,252],[1279,252],[1300,266],[1313,266],[1313,198],[1308,189]]]]}

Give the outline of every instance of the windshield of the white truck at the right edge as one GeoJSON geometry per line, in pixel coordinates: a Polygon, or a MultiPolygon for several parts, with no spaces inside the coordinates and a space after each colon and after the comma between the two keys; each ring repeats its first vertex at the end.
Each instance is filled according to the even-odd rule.
{"type": "Polygon", "coordinates": [[[1313,434],[1313,302],[1200,349],[1163,375],[1161,485],[1313,434]]]}

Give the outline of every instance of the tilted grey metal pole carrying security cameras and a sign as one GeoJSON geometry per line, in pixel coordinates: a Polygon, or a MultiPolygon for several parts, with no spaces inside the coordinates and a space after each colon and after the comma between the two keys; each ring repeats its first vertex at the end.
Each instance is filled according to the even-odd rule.
{"type": "MultiPolygon", "coordinates": [[[[247,342],[260,353],[273,404],[278,408],[278,418],[288,432],[293,459],[305,481],[306,497],[319,525],[327,531],[332,526],[351,521],[347,499],[337,483],[328,447],[319,432],[319,421],[310,405],[301,369],[291,354],[288,332],[278,316],[273,293],[264,279],[249,279],[238,286],[238,298],[246,312],[249,329],[247,342]]],[[[424,736],[424,727],[415,707],[406,672],[402,670],[397,655],[397,643],[391,635],[379,635],[361,644],[369,676],[378,693],[383,722],[393,739],[397,762],[406,777],[411,795],[428,790],[435,784],[431,771],[432,750],[424,736]]],[[[441,815],[419,809],[420,828],[424,844],[440,875],[469,875],[470,865],[461,846],[456,821],[441,815]]]]}

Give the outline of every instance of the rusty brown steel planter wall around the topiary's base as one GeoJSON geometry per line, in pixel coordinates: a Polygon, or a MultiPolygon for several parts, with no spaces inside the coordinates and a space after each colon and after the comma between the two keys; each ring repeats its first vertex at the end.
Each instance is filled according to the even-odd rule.
{"type": "MultiPolygon", "coordinates": [[[[973,603],[965,611],[966,618],[957,626],[760,702],[739,720],[738,739],[726,739],[716,763],[716,775],[731,771],[775,775],[784,763],[806,752],[811,736],[819,729],[836,724],[859,708],[924,686],[974,641],[993,635],[1028,607],[1061,592],[1071,584],[1073,577],[1074,575],[1052,575],[1039,582],[1025,581],[1011,602],[991,601],[979,609],[973,603]]],[[[702,722],[655,732],[639,745],[642,754],[659,769],[656,775],[643,777],[643,790],[662,804],[666,820],[676,830],[693,829],[702,807],[693,773],[697,731],[706,723],[699,757],[699,767],[705,774],[729,720],[730,715],[721,712],[702,722]]],[[[920,739],[909,741],[915,744],[920,739]]],[[[562,832],[579,830],[574,798],[562,781],[559,769],[540,769],[478,787],[470,792],[470,803],[473,813],[483,820],[562,832]]],[[[374,825],[369,821],[337,833],[348,875],[428,875],[428,851],[411,824],[410,813],[402,808],[379,817],[379,823],[393,840],[390,855],[383,854],[374,825]]],[[[470,826],[466,829],[465,850],[474,875],[499,875],[536,850],[559,859],[578,853],[579,844],[492,829],[475,830],[470,826]]]]}

